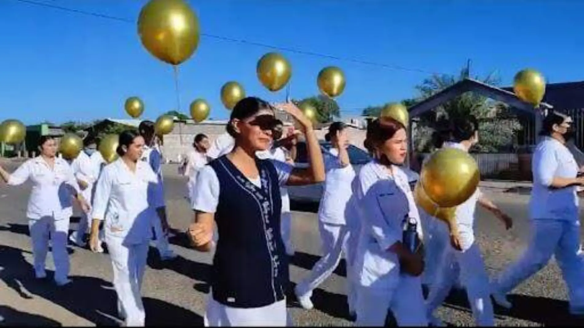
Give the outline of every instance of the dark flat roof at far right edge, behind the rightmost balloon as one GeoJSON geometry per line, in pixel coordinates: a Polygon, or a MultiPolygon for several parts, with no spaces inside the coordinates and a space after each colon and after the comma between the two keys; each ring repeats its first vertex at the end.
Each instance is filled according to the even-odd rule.
{"type": "MultiPolygon", "coordinates": [[[[512,86],[502,89],[513,92],[512,86]]],[[[549,83],[543,101],[559,110],[584,109],[584,81],[549,83]]]]}

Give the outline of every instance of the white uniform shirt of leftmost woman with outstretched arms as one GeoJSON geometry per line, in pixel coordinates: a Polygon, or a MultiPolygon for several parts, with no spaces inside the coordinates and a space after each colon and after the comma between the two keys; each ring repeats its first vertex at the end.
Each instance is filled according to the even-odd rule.
{"type": "Polygon", "coordinates": [[[27,218],[54,217],[59,220],[71,217],[71,189],[75,189],[77,193],[80,190],[69,163],[55,157],[54,168],[51,169],[41,156],[29,159],[10,175],[8,184],[17,186],[29,179],[33,187],[26,209],[27,218]]]}

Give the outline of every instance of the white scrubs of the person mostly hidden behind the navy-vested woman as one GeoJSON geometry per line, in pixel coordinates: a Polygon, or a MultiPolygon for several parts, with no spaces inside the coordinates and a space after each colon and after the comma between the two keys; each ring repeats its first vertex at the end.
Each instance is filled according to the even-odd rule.
{"type": "MultiPolygon", "coordinates": [[[[273,159],[279,162],[286,162],[287,150],[283,147],[272,148],[268,151],[256,152],[256,156],[262,159],[273,159]]],[[[288,189],[280,187],[280,197],[282,200],[282,208],[280,214],[280,234],[284,247],[286,247],[286,254],[294,255],[294,244],[292,243],[292,213],[290,212],[290,196],[288,196],[288,189]]]]}

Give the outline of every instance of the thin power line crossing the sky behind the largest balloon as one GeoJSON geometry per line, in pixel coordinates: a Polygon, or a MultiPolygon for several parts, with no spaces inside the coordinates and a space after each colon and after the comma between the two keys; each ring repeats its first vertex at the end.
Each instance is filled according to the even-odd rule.
{"type": "MultiPolygon", "coordinates": [[[[118,22],[123,22],[123,23],[131,23],[131,24],[135,24],[136,23],[135,20],[131,20],[131,19],[127,19],[127,18],[120,18],[120,17],[111,16],[111,15],[105,15],[105,14],[96,13],[96,12],[82,11],[82,10],[79,10],[79,9],[68,8],[68,7],[54,5],[54,4],[47,4],[46,2],[37,2],[37,1],[33,1],[33,0],[13,0],[13,1],[20,2],[22,4],[36,5],[36,6],[46,7],[46,8],[58,9],[58,10],[61,10],[61,11],[79,13],[79,14],[82,14],[82,15],[93,16],[93,17],[96,17],[96,18],[116,20],[118,22]]],[[[299,49],[291,48],[291,47],[272,46],[272,45],[266,44],[266,43],[260,43],[260,42],[256,42],[256,41],[246,40],[246,39],[236,39],[236,38],[227,37],[227,36],[219,36],[219,35],[210,34],[210,33],[201,33],[201,36],[208,37],[208,38],[215,39],[215,40],[222,40],[222,41],[228,41],[228,42],[234,42],[234,43],[241,43],[241,44],[249,44],[250,46],[270,48],[270,49],[275,49],[275,50],[280,50],[280,51],[286,51],[288,53],[311,55],[311,56],[314,56],[314,57],[328,58],[328,59],[332,59],[332,60],[354,62],[356,64],[363,64],[363,65],[370,65],[370,66],[382,67],[382,68],[387,68],[387,69],[393,69],[393,70],[396,70],[396,71],[418,72],[418,73],[425,73],[425,74],[443,74],[444,75],[444,73],[430,72],[430,71],[426,71],[424,69],[408,68],[408,67],[403,67],[401,65],[384,64],[384,63],[380,63],[380,62],[359,60],[359,59],[356,59],[356,58],[339,57],[339,56],[335,56],[335,55],[315,53],[313,51],[299,50],[299,49]]]]}

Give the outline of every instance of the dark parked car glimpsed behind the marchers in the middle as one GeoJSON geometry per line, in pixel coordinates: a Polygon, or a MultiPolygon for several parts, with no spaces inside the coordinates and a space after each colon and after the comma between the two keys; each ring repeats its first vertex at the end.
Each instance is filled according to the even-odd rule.
{"type": "MultiPolygon", "coordinates": [[[[328,151],[328,149],[331,149],[332,147],[331,142],[327,141],[320,141],[320,145],[322,151],[328,151]]],[[[297,155],[294,166],[297,168],[307,168],[308,160],[306,143],[304,141],[298,141],[296,149],[297,155]]],[[[354,145],[349,145],[347,152],[349,153],[349,162],[351,165],[353,165],[355,173],[359,175],[359,170],[363,167],[363,165],[371,161],[371,156],[369,156],[369,153],[363,149],[354,145]]],[[[413,189],[413,186],[415,186],[416,182],[418,182],[419,175],[409,168],[404,168],[404,170],[408,176],[410,187],[413,189]]],[[[319,203],[322,193],[324,192],[324,183],[310,184],[308,186],[289,186],[287,189],[291,201],[297,201],[301,203],[319,203]]]]}

